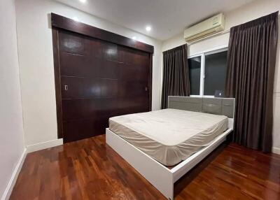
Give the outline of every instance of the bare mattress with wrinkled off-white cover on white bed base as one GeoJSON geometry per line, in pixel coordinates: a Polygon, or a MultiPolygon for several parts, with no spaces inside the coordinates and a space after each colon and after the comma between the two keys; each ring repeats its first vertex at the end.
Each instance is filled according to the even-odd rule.
{"type": "Polygon", "coordinates": [[[228,117],[164,109],[111,117],[109,129],[165,166],[174,166],[228,129],[228,117]]]}

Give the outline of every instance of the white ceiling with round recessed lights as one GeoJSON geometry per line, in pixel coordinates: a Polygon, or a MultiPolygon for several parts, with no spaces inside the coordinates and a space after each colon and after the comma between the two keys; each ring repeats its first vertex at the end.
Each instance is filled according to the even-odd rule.
{"type": "Polygon", "coordinates": [[[158,40],[253,0],[56,0],[158,40]],[[146,26],[151,25],[151,31],[146,26]]]}

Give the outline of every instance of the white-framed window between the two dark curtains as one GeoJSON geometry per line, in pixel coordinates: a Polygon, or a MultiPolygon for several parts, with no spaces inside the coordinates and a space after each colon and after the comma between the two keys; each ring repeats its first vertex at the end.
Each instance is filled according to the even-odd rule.
{"type": "Polygon", "coordinates": [[[204,52],[188,58],[190,95],[214,96],[225,91],[227,72],[227,49],[204,52]]]}

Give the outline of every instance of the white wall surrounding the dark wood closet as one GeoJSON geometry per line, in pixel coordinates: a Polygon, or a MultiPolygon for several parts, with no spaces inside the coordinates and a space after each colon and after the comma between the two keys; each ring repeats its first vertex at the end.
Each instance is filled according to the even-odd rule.
{"type": "Polygon", "coordinates": [[[112,31],[137,36],[138,40],[155,47],[153,56],[153,110],[160,108],[161,42],[88,15],[79,10],[48,0],[17,0],[18,50],[22,108],[26,145],[57,139],[55,79],[52,57],[52,34],[49,13],[78,17],[81,22],[112,31]]]}

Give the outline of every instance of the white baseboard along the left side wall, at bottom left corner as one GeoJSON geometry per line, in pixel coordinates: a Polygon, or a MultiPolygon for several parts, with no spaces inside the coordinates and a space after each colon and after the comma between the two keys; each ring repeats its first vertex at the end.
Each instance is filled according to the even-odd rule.
{"type": "Polygon", "coordinates": [[[13,187],[15,186],[15,182],[18,179],[18,175],[20,174],[20,170],[22,169],[22,164],[25,162],[25,157],[27,155],[27,149],[23,150],[22,155],[18,161],[17,166],[15,166],[15,170],[13,171],[12,176],[10,177],[10,181],[4,191],[1,200],[8,200],[10,198],[10,194],[13,191],[13,187]]]}

